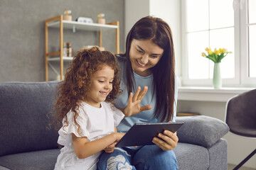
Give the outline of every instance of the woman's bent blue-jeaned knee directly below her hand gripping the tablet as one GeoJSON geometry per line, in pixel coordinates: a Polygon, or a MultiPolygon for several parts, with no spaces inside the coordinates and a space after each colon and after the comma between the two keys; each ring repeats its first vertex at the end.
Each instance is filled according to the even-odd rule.
{"type": "Polygon", "coordinates": [[[157,145],[146,145],[134,154],[132,164],[136,169],[176,170],[178,169],[174,151],[163,151],[157,145]]]}

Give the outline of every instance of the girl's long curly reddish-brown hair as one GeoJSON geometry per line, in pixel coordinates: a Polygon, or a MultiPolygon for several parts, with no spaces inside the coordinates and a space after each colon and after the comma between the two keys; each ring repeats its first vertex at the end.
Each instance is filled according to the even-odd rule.
{"type": "Polygon", "coordinates": [[[63,118],[65,118],[65,123],[68,126],[67,113],[71,109],[75,113],[75,125],[78,126],[78,132],[80,131],[80,125],[76,121],[79,114],[78,108],[81,101],[85,101],[85,98],[87,98],[87,92],[90,91],[92,74],[102,69],[105,65],[114,69],[112,91],[105,100],[112,102],[120,92],[119,67],[115,55],[112,52],[100,51],[98,47],[82,49],[77,52],[73,63],[67,69],[64,81],[58,86],[58,99],[55,102],[55,115],[53,118],[56,121],[56,129],[62,126],[63,118]]]}

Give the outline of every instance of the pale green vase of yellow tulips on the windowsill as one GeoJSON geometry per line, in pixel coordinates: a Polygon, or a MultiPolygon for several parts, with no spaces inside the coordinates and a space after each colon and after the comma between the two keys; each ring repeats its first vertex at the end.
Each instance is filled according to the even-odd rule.
{"type": "Polygon", "coordinates": [[[220,62],[223,58],[228,55],[228,50],[226,48],[217,48],[214,49],[214,52],[211,50],[210,47],[206,47],[206,52],[202,52],[202,56],[212,60],[214,62],[214,69],[213,69],[213,87],[214,89],[220,89],[222,86],[222,79],[221,79],[221,72],[220,72],[220,62]]]}

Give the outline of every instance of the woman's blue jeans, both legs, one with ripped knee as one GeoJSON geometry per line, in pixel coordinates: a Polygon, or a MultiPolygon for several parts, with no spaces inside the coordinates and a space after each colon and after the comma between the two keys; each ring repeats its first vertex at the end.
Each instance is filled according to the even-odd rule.
{"type": "Polygon", "coordinates": [[[110,154],[103,152],[97,163],[97,169],[173,170],[178,169],[178,165],[172,150],[163,151],[157,145],[146,145],[138,150],[115,148],[110,154]]]}

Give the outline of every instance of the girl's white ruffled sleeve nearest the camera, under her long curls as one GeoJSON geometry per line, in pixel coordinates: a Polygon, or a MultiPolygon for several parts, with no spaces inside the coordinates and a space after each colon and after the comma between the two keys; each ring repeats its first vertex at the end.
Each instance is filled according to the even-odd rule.
{"type": "Polygon", "coordinates": [[[87,115],[79,109],[79,115],[78,118],[76,118],[76,122],[80,125],[80,128],[78,130],[78,125],[75,125],[74,115],[72,111],[69,111],[67,114],[67,120],[68,123],[65,122],[65,118],[63,118],[63,127],[60,128],[58,131],[58,134],[60,135],[58,137],[58,144],[60,145],[69,145],[73,142],[72,140],[72,133],[75,134],[77,137],[87,137],[88,140],[90,140],[90,133],[88,132],[88,126],[90,123],[88,123],[87,115]]]}

